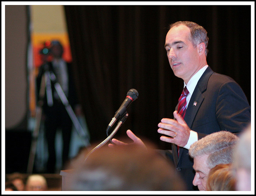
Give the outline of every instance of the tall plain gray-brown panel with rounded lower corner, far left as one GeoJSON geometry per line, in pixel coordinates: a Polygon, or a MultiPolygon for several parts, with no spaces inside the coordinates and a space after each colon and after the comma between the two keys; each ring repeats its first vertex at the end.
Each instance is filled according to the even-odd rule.
{"type": "Polygon", "coordinates": [[[26,128],[24,127],[27,108],[26,24],[26,6],[5,6],[5,128],[7,129],[16,126],[20,129],[26,128]]]}

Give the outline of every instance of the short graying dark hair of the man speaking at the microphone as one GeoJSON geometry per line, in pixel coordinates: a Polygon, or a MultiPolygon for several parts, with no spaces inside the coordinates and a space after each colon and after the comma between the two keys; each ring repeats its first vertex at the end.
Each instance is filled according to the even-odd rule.
{"type": "Polygon", "coordinates": [[[186,25],[188,28],[190,28],[191,42],[195,48],[198,44],[204,42],[206,46],[205,54],[207,56],[207,53],[208,53],[207,46],[208,46],[208,40],[209,40],[207,36],[207,31],[199,24],[190,22],[190,21],[178,21],[176,23],[170,24],[169,28],[171,29],[172,27],[178,26],[180,24],[186,25]]]}

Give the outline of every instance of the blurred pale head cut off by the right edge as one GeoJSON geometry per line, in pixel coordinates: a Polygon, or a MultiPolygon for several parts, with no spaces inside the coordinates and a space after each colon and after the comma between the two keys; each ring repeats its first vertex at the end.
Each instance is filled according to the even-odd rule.
{"type": "Polygon", "coordinates": [[[240,135],[240,141],[234,151],[234,175],[236,190],[251,190],[251,125],[240,135]]]}

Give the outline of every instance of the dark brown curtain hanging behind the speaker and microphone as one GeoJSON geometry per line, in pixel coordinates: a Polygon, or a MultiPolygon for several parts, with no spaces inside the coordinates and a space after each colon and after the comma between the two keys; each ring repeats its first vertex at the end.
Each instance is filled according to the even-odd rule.
{"type": "MultiPolygon", "coordinates": [[[[65,6],[75,88],[91,143],[106,137],[106,128],[129,89],[139,97],[115,135],[131,129],[159,148],[158,123],[173,118],[183,81],[169,65],[164,49],[170,23],[193,21],[209,36],[209,66],[231,76],[251,102],[251,6],[65,6]]],[[[116,124],[112,127],[114,128],[116,124]]],[[[111,130],[111,132],[113,129],[111,130]]]]}

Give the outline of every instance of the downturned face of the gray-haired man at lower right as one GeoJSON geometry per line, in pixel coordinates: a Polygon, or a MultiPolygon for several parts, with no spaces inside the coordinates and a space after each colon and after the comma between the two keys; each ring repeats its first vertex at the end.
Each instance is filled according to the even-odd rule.
{"type": "Polygon", "coordinates": [[[206,160],[209,155],[202,155],[194,157],[194,171],[196,171],[193,185],[197,186],[199,191],[206,191],[206,184],[210,168],[208,168],[206,160]]]}

